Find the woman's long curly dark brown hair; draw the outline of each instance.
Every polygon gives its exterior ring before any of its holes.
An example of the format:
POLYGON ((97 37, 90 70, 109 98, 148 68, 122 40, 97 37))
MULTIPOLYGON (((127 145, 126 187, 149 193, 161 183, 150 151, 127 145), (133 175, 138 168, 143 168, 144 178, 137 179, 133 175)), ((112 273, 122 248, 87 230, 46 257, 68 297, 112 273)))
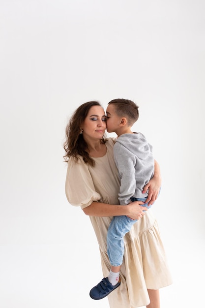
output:
MULTIPOLYGON (((73 156, 78 161, 79 156, 83 157, 85 163, 94 166, 94 160, 88 154, 88 144, 83 138, 81 127, 86 119, 88 112, 92 106, 101 106, 98 101, 89 101, 80 105, 72 117, 65 129, 65 142, 63 148, 65 150, 64 160, 68 162, 69 157, 73 156)), ((100 142, 105 143, 105 135, 100 139, 100 142)))

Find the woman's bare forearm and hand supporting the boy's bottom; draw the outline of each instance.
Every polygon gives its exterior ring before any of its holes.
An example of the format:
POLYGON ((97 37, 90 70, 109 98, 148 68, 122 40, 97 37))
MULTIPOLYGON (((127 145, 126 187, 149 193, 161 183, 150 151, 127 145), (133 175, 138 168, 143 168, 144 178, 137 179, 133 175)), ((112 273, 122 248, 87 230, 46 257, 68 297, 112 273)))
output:
POLYGON ((142 201, 131 202, 127 205, 113 205, 101 202, 92 202, 83 211, 88 216, 129 216, 133 219, 140 219, 145 215, 147 208, 140 206, 144 204, 142 201))

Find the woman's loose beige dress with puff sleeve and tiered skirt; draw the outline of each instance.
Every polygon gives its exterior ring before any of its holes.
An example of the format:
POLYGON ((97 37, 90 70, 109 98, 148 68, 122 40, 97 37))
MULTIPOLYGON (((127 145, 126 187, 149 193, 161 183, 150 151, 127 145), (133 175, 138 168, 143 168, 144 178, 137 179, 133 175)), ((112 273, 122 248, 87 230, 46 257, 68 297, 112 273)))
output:
MULTIPOLYGON (((68 161, 65 192, 68 202, 82 209, 93 201, 119 204, 119 179, 113 156, 113 138, 106 142, 107 153, 94 158, 95 166, 82 159, 68 161)), ((103 277, 110 271, 106 236, 112 217, 90 216, 101 254, 103 277)), ((136 308, 149 304, 147 289, 170 285, 172 277, 157 222, 148 210, 124 237, 124 260, 121 266, 120 286, 108 296, 110 308, 136 308)), ((99 277, 99 281, 102 277, 99 277)))

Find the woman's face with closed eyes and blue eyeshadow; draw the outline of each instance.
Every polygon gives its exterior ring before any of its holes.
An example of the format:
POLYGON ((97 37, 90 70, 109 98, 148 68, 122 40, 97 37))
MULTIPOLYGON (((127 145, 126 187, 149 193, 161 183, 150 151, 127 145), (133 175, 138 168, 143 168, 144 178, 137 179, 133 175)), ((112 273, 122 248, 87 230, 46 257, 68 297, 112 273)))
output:
POLYGON ((106 129, 106 116, 101 106, 92 106, 82 125, 84 139, 99 140, 106 129))

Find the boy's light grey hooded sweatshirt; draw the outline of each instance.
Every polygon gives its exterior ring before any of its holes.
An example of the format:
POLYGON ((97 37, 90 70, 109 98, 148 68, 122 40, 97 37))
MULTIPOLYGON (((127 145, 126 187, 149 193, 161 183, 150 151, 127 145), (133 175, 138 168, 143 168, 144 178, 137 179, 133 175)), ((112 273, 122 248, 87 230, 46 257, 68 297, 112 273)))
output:
POLYGON ((114 156, 120 178, 119 202, 128 204, 130 197, 144 198, 143 187, 154 174, 152 146, 145 136, 138 132, 123 134, 117 138, 114 156))

